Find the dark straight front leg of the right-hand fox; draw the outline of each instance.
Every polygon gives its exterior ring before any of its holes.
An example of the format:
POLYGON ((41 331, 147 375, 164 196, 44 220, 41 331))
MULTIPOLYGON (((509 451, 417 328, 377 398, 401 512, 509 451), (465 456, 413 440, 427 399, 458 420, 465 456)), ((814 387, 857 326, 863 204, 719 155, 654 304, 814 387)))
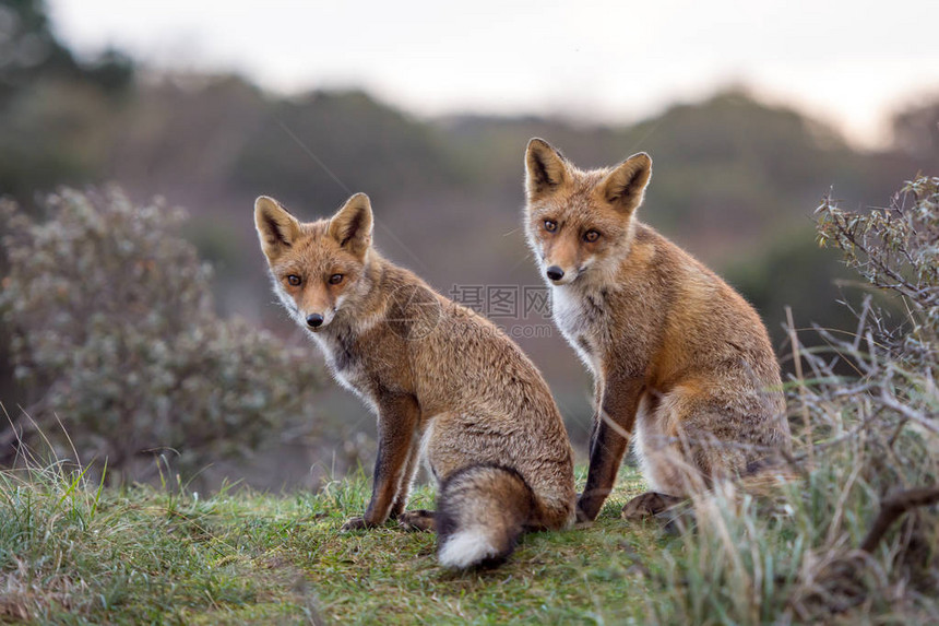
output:
POLYGON ((594 416, 590 442, 590 469, 584 491, 578 498, 578 520, 593 521, 613 491, 635 412, 642 394, 641 379, 609 379, 594 416))

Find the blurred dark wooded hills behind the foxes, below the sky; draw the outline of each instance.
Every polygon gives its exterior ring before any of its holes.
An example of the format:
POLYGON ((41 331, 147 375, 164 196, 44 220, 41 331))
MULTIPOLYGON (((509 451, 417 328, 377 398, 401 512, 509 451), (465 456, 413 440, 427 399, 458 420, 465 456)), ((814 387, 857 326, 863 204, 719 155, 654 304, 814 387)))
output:
MULTIPOLYGON (((786 305, 798 326, 849 328, 851 314, 836 303, 842 267, 815 244, 811 212, 830 191, 845 206, 883 205, 903 180, 939 170, 939 96, 924 97, 895 115, 893 144, 877 151, 857 150, 805 114, 741 87, 628 126, 421 120, 362 92, 280 97, 237 75, 139 69, 117 50, 80 58, 56 38, 43 2, 0 0, 0 194, 29 214, 38 211, 37 194, 59 185, 117 181, 131 201, 161 196, 186 206, 192 217, 182 232, 215 268, 218 314, 292 338, 297 331, 271 305, 257 249, 257 196, 275 196, 313 218, 366 191, 377 245, 441 292, 539 285, 520 228, 522 157, 535 135, 581 166, 652 154, 642 218, 739 287, 781 350, 786 305)), ((5 228, 0 224, 0 235, 5 228)), ((7 268, 0 259, 0 275, 7 268)), ((562 409, 587 413, 582 368, 563 341, 520 343, 562 409)), ((25 402, 8 364, 3 330, 0 398, 25 402)))

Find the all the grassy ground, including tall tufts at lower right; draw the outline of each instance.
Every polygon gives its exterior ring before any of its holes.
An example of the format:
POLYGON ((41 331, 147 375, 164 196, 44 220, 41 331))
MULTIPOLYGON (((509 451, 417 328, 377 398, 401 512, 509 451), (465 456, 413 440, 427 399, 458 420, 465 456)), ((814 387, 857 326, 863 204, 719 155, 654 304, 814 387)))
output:
MULTIPOLYGON (((623 468, 593 525, 528 534, 507 564, 467 572, 437 565, 430 533, 340 532, 367 503, 361 473, 317 493, 206 498, 178 480, 102 488, 64 463, 0 471, 0 622, 935 624, 936 512, 859 555, 877 501, 852 454, 775 498, 699 498, 679 534, 619 518, 644 489, 623 468)), ((432 505, 418 487, 411 506, 432 505)))

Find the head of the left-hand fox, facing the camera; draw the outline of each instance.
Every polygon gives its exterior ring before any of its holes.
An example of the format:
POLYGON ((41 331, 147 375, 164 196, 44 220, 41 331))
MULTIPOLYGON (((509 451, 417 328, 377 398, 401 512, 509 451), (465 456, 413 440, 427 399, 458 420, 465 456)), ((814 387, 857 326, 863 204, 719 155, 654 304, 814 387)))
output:
POLYGON ((368 293, 372 214, 365 193, 349 198, 331 218, 309 223, 261 196, 254 226, 274 292, 301 326, 318 332, 368 293))

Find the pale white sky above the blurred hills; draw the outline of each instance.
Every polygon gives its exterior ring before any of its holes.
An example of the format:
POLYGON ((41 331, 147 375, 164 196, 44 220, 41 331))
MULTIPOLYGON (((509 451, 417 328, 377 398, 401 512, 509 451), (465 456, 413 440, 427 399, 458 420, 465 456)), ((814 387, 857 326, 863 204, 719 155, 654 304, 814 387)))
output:
POLYGON ((285 94, 361 87, 418 116, 628 123, 746 85, 876 146, 891 111, 939 97, 937 0, 48 4, 80 54, 115 46, 285 94))

